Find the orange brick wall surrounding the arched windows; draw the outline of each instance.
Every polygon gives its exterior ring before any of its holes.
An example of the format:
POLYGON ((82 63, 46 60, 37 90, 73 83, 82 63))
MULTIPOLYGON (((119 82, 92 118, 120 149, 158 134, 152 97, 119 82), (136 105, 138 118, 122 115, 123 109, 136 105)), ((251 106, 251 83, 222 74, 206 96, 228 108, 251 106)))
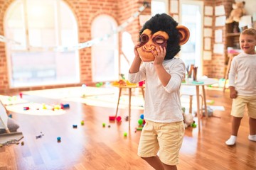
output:
MULTIPOLYGON (((4 35, 4 14, 7 8, 14 0, 0 0, 0 35, 4 35)), ((90 28, 91 23, 95 17, 100 14, 108 14, 116 19, 118 25, 124 23, 132 13, 138 11, 138 8, 142 6, 143 0, 63 0, 75 13, 75 17, 78 21, 79 29, 79 42, 86 42, 91 40, 90 28)), ((146 0, 150 2, 150 0, 146 0)), ((222 4, 225 6, 226 12, 229 13, 231 10, 232 0, 204 0, 205 4, 215 6, 216 4, 222 4)), ((149 14, 150 8, 142 14, 149 14)), ((228 15, 227 15, 228 16, 228 15)), ((132 23, 124 28, 123 31, 127 31, 132 35, 132 40, 137 42, 138 32, 141 26, 139 26, 139 18, 136 18, 132 23)), ((122 35, 122 33, 119 33, 122 35)), ((119 36, 119 49, 122 47, 121 37, 119 36)), ((92 68, 91 68, 91 48, 83 48, 80 50, 80 84, 69 84, 69 85, 58 85, 58 86, 40 86, 40 87, 29 87, 22 89, 9 89, 9 78, 8 78, 8 67, 6 62, 6 52, 4 42, 0 42, 0 93, 18 92, 35 89, 50 89, 56 87, 65 86, 78 86, 81 84, 92 84, 92 68)), ((208 77, 223 77, 223 66, 224 57, 213 54, 213 60, 203 62, 203 74, 208 77)))

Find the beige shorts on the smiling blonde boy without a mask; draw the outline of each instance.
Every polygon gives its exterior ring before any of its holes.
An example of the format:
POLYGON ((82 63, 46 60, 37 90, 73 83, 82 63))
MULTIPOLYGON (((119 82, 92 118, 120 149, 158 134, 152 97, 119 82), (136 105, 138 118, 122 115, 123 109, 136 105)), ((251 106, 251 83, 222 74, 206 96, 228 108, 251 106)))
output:
POLYGON ((246 111, 245 108, 247 108, 248 116, 256 119, 256 96, 238 96, 234 98, 231 115, 242 118, 246 111))

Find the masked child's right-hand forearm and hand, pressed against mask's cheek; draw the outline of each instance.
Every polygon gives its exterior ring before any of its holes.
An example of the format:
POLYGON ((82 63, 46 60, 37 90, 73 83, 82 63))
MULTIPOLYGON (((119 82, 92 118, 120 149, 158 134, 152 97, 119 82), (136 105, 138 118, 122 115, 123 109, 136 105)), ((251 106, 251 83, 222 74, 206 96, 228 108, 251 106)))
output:
POLYGON ((156 73, 159 76, 159 79, 161 81, 161 84, 163 86, 167 86, 171 79, 171 75, 166 72, 166 69, 164 69, 163 62, 164 57, 166 56, 166 48, 164 47, 156 47, 156 52, 152 51, 155 60, 154 60, 154 67, 156 69, 156 73))

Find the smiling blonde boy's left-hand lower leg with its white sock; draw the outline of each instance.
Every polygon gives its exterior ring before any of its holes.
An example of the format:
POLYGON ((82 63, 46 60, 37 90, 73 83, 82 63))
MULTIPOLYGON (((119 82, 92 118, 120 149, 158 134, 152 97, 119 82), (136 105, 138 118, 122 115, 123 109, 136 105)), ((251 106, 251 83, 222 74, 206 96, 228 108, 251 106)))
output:
POLYGON ((230 138, 225 142, 226 145, 235 145, 237 136, 238 136, 238 129, 240 127, 242 118, 234 117, 232 118, 232 125, 231 125, 231 136, 230 138))

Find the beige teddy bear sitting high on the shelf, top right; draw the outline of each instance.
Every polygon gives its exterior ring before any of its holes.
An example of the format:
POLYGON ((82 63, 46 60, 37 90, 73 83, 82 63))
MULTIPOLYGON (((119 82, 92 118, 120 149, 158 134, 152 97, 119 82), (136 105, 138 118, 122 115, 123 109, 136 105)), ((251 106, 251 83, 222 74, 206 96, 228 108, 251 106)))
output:
POLYGON ((226 23, 239 22, 240 18, 245 15, 245 1, 236 2, 232 7, 233 10, 226 19, 226 23))

